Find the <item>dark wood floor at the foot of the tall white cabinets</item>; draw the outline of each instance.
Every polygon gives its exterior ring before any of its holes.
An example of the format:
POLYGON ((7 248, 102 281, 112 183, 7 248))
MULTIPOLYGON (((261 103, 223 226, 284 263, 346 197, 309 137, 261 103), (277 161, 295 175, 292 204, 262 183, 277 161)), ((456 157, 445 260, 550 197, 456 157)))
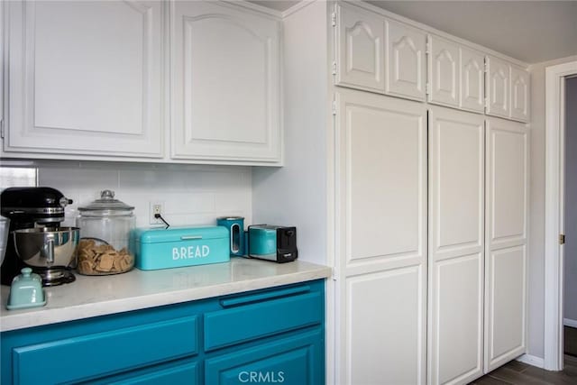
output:
POLYGON ((563 371, 545 371, 527 363, 511 361, 472 384, 476 385, 575 385, 577 357, 565 354, 563 371))

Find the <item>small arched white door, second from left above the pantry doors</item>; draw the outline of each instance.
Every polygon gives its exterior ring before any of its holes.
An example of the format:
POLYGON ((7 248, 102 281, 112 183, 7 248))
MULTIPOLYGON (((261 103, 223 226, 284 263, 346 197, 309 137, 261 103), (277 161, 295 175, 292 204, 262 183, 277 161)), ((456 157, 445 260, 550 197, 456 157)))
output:
POLYGON ((385 92, 392 96, 425 100, 426 33, 387 20, 385 92))

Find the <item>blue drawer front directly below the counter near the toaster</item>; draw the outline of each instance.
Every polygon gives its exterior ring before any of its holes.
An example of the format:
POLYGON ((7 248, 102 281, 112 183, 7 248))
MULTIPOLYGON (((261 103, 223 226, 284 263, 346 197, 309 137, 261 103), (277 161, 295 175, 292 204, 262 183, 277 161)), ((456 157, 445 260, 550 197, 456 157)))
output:
POLYGON ((325 300, 314 284, 220 300, 205 314, 205 351, 324 322, 325 300))

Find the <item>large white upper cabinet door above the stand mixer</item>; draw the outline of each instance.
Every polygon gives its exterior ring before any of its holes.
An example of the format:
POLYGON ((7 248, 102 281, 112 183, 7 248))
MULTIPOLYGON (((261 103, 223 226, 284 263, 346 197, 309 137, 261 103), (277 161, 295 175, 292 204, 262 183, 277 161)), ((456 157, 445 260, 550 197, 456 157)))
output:
POLYGON ((162 157, 163 3, 6 7, 4 151, 162 157))

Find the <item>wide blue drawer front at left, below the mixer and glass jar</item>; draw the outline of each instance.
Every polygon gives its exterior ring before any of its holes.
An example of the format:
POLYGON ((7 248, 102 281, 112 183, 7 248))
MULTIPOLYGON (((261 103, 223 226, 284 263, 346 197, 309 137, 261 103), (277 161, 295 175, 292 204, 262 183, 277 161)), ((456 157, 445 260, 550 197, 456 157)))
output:
POLYGON ((186 316, 14 348, 14 382, 87 380, 197 352, 197 316, 186 316))

